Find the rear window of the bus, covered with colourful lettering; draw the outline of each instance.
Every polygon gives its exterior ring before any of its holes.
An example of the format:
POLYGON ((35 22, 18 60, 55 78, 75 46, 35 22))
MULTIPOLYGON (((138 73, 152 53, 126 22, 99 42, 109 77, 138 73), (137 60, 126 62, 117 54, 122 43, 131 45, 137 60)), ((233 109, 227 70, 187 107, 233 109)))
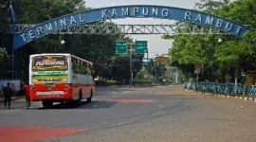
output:
POLYGON ((66 70, 67 59, 64 55, 35 56, 32 59, 32 70, 66 70))

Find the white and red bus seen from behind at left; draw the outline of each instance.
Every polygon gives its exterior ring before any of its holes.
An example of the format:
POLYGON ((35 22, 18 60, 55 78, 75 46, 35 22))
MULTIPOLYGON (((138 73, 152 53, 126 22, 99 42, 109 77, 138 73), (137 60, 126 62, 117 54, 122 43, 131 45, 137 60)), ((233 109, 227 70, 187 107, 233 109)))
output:
POLYGON ((34 54, 29 60, 29 97, 42 101, 45 108, 53 102, 91 101, 95 93, 93 63, 71 54, 34 54))

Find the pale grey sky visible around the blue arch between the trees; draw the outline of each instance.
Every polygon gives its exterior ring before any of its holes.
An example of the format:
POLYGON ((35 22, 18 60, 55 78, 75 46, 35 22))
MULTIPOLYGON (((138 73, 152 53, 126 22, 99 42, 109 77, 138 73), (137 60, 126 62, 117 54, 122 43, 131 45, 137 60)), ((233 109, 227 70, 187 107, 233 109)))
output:
MULTIPOLYGON (((110 6, 123 5, 159 5, 170 6, 177 8, 192 9, 195 2, 199 0, 85 0, 86 6, 90 8, 104 8, 110 6)), ((152 18, 136 18, 136 19, 118 19, 112 20, 117 24, 127 25, 160 25, 160 24, 174 24, 172 20, 161 20, 152 18)), ((172 47, 171 40, 161 39, 161 35, 130 35, 137 41, 148 41, 149 57, 154 58, 156 54, 161 55, 168 53, 168 49, 172 47)))

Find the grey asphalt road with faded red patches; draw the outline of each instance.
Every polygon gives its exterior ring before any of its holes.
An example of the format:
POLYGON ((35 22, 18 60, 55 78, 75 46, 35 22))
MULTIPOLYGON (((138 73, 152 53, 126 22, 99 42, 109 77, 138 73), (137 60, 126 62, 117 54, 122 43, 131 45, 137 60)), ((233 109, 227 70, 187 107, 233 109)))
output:
POLYGON ((1 142, 253 142, 256 103, 188 93, 180 86, 97 88, 81 107, 24 99, 0 106, 1 142))

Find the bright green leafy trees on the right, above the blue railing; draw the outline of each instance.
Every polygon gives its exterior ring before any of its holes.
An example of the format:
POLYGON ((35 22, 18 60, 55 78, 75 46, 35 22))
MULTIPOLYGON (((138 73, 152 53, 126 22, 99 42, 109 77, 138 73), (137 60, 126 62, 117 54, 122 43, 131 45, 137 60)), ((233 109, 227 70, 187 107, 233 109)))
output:
MULTIPOLYGON (((195 78, 194 64, 200 64, 203 73, 200 80, 234 81, 234 70, 251 69, 250 62, 256 59, 256 3, 255 0, 229 0, 217 2, 201 0, 199 9, 230 20, 250 25, 251 29, 242 38, 231 35, 164 35, 162 38, 174 40, 170 49, 171 64, 177 66, 187 79, 195 78), (221 39, 221 42, 219 42, 221 39)), ((180 29, 185 30, 185 29, 180 29)), ((241 77, 239 77, 241 78, 241 77)))

